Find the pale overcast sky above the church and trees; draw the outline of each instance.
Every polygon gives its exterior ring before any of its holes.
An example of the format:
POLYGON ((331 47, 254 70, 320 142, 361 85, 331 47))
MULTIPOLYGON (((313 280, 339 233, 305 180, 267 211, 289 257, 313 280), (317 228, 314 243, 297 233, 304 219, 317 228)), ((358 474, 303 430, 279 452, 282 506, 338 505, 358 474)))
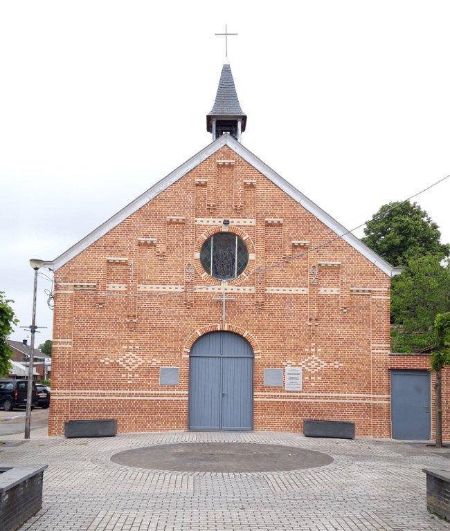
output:
MULTIPOLYGON (((20 324, 30 257, 54 259, 211 141, 225 23, 242 143, 351 228, 450 173, 449 20, 433 0, 1 2, 0 290, 20 324)), ((449 197, 450 179, 417 200, 447 242, 449 197)))

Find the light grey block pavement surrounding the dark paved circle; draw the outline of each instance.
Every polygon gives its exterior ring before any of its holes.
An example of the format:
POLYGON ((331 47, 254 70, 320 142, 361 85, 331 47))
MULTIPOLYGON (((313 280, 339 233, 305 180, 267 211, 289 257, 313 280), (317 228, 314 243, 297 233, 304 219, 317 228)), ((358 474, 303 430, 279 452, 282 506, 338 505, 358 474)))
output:
POLYGON ((66 440, 36 430, 28 443, 15 445, 10 437, 2 445, 2 439, 0 462, 49 465, 42 510, 21 530, 450 530, 426 511, 421 471, 450 468, 449 449, 260 432, 66 440), (294 472, 224 474, 138 469, 110 460, 125 449, 196 441, 289 445, 330 454, 334 461, 294 472))

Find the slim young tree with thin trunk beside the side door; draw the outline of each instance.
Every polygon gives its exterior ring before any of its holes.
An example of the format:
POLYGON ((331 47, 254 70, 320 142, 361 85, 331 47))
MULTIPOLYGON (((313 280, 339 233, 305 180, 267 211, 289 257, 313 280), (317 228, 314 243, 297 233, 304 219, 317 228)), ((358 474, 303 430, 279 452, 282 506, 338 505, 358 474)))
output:
POLYGON ((431 356, 431 368, 436 373, 435 425, 436 447, 442 448, 442 369, 450 366, 450 313, 439 313, 434 322, 436 346, 431 356))

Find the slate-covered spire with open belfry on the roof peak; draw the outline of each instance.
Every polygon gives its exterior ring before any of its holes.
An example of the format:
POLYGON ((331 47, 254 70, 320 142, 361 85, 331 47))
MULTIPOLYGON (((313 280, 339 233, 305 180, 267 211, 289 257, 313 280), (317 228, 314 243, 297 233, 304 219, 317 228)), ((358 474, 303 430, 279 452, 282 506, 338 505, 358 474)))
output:
POLYGON ((228 133, 240 142, 246 121, 247 117, 237 98, 231 67, 226 59, 222 66, 213 109, 206 115, 206 129, 213 133, 213 140, 228 133))

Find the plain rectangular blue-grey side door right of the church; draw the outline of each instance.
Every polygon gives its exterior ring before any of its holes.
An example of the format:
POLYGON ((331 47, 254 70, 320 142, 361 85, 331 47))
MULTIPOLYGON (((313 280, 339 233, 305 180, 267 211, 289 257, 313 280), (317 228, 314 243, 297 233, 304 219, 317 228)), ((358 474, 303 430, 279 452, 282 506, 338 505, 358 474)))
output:
POLYGON ((431 387, 428 371, 391 371, 391 419, 394 439, 429 440, 431 387))

